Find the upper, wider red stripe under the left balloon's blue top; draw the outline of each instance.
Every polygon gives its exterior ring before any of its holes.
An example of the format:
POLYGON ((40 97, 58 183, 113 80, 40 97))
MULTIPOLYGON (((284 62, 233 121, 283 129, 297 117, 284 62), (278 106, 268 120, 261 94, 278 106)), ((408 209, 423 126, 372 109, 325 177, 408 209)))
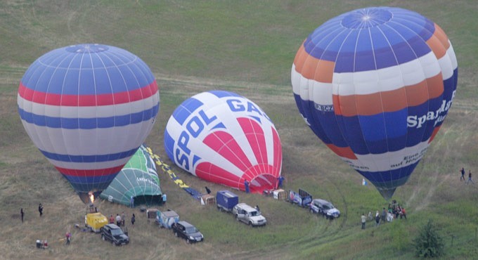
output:
POLYGON ((157 93, 156 81, 143 86, 140 89, 132 91, 123 91, 118 93, 107 93, 98 95, 61 95, 55 93, 46 93, 34 91, 27 88, 20 82, 18 94, 25 100, 45 105, 66 105, 75 107, 88 107, 97 105, 116 105, 130 103, 137 100, 149 98, 157 93))

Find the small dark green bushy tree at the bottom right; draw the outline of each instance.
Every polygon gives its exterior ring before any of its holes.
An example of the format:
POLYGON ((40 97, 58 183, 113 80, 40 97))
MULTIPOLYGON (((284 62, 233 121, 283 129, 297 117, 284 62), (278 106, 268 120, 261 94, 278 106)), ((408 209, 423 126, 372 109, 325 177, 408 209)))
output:
POLYGON ((439 229, 431 219, 420 229, 418 237, 413 240, 417 256, 437 257, 444 255, 444 242, 438 231, 439 229))

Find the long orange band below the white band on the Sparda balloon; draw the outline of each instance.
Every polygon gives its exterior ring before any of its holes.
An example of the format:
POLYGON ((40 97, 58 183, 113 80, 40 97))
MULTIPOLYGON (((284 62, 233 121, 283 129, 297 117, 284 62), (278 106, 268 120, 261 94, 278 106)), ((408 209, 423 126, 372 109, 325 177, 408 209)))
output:
POLYGON ((441 96, 444 91, 441 73, 418 84, 393 91, 382 91, 368 95, 332 96, 336 115, 377 115, 420 105, 441 96))

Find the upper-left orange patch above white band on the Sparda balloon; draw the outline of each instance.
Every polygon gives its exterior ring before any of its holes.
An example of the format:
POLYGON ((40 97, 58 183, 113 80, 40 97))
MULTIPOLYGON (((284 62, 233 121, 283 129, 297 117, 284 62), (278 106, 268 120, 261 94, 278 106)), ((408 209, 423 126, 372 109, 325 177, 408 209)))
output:
POLYGON ((314 79, 316 82, 332 83, 335 63, 329 60, 320 60, 310 56, 304 48, 300 46, 294 59, 295 70, 302 74, 306 79, 314 79))

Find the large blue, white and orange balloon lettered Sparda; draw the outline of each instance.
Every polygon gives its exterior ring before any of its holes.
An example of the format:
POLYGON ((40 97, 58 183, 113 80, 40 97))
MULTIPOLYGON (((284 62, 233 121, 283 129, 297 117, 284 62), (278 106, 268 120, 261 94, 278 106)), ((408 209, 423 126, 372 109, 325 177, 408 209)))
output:
POLYGON ((291 82, 314 134, 389 200, 439 131, 455 96, 458 63, 432 20, 370 7, 309 34, 291 82))

